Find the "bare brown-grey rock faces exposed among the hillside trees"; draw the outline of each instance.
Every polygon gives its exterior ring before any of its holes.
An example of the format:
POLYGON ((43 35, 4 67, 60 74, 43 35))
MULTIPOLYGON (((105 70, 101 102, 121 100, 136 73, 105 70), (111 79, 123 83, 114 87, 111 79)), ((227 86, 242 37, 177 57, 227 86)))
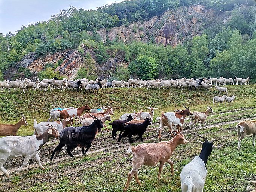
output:
MULTIPOLYGON (((157 44, 176 46, 187 38, 201 35, 205 21, 220 20, 223 23, 228 22, 229 12, 218 15, 213 9, 206 9, 201 5, 181 7, 175 11, 165 12, 161 16, 155 16, 148 21, 134 22, 128 27, 120 26, 112 28, 110 31, 100 29, 97 33, 105 41, 107 37, 110 40, 118 38, 125 43, 133 40, 149 42, 154 40, 157 44)), ((95 58, 93 48, 87 48, 82 45, 85 54, 88 52, 92 58, 95 58)), ((83 58, 77 50, 65 50, 49 54, 45 58, 36 58, 35 53, 29 53, 14 67, 5 73, 6 79, 13 79, 19 67, 29 68, 36 78, 37 72, 43 70, 47 63, 57 63, 63 59, 63 63, 56 69, 61 75, 73 79, 77 70, 83 65, 83 58)), ((104 64, 96 64, 98 74, 104 74, 104 71, 115 70, 116 65, 128 65, 122 55, 116 54, 110 57, 104 64)), ((21 74, 22 76, 22 74, 21 74)))

